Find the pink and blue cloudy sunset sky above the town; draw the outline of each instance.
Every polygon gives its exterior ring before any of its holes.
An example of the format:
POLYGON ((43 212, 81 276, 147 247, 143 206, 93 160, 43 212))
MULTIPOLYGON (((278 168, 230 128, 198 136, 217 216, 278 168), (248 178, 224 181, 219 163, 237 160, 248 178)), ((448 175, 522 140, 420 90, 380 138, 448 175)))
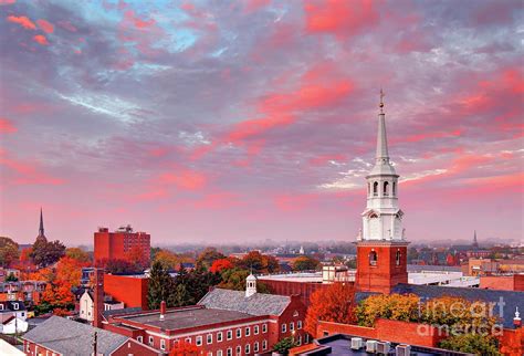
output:
POLYGON ((0 0, 0 235, 523 241, 522 1, 0 0))

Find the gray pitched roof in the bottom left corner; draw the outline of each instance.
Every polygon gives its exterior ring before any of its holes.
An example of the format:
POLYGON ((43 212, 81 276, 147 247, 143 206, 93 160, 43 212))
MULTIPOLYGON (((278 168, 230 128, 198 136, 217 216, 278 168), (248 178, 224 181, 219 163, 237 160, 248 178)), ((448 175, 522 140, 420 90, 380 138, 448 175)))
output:
POLYGON ((97 331, 98 354, 109 355, 128 339, 127 336, 60 316, 51 316, 23 338, 62 355, 91 355, 94 331, 97 331))

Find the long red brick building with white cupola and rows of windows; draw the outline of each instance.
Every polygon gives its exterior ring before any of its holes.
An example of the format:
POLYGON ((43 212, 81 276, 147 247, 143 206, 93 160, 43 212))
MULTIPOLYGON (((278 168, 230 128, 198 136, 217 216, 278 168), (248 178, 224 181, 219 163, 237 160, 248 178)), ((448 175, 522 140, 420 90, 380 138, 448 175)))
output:
POLYGON ((307 342, 300 297, 256 293, 255 284, 251 275, 245 292, 213 289, 197 305, 114 315, 103 327, 163 352, 186 342, 216 356, 269 352, 287 336, 307 342))

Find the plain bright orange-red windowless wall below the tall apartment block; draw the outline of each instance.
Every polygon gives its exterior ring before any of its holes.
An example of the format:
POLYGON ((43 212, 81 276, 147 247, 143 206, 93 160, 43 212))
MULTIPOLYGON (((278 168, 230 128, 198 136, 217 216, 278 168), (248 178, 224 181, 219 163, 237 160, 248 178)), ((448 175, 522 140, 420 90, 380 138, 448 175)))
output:
POLYGON ((124 302, 125 307, 139 306, 147 310, 147 279, 126 275, 105 274, 104 292, 118 302, 124 302))

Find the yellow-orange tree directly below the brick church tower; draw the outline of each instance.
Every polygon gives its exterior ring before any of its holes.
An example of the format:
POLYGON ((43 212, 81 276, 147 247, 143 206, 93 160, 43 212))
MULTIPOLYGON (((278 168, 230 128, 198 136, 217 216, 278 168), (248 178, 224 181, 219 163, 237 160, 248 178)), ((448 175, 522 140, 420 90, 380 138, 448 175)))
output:
POLYGON ((419 320, 419 301, 415 294, 377 294, 370 295, 356 307, 358 325, 373 326, 377 318, 417 322, 419 320))

